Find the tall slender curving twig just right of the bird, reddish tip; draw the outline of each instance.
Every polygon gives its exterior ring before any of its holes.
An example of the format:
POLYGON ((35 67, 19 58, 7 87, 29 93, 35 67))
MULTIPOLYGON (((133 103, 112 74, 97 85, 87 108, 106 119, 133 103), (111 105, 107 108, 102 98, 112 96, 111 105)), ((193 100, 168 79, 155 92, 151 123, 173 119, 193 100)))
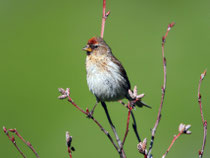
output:
POLYGON ((156 120, 155 125, 152 129, 151 142, 150 142, 150 147, 149 147, 149 151, 148 151, 148 157, 149 158, 151 157, 153 142, 154 142, 154 139, 155 139, 155 132, 157 130, 157 127, 158 127, 160 119, 161 119, 161 111, 162 111, 164 97, 165 97, 165 91, 166 91, 166 58, 165 58, 165 55, 164 55, 165 40, 166 40, 166 37, 168 36, 168 32, 171 30, 171 28, 174 25, 175 25, 174 22, 169 24, 165 36, 162 37, 162 57, 163 57, 164 82, 163 82, 163 86, 162 86, 162 97, 161 97, 161 102, 160 102, 160 107, 159 107, 159 111, 158 111, 157 120, 156 120))

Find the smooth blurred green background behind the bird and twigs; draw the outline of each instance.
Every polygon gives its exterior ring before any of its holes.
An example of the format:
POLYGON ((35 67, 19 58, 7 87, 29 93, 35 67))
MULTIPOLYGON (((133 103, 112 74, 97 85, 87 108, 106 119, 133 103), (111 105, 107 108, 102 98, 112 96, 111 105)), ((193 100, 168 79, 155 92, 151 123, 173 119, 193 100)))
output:
MULTIPOLYGON (((182 135, 170 158, 198 157, 203 127, 197 103, 200 74, 210 67, 210 1, 107 0, 104 39, 123 63, 132 87, 145 93, 152 109, 136 109, 141 138, 150 140, 161 100, 163 66, 161 38, 166 39, 167 90, 162 120, 156 133, 154 157, 161 157, 178 134, 180 123, 191 124, 192 135, 182 135)), ((58 88, 71 89, 74 101, 91 109, 95 97, 86 84, 82 48, 100 35, 102 0, 0 0, 0 127, 17 128, 42 158, 68 157, 65 132, 73 136, 73 157, 119 157, 107 137, 66 100, 58 88)), ((204 117, 210 121, 210 77, 201 86, 204 117)), ((127 110, 108 103, 116 129, 123 138, 127 110)), ((95 118, 113 135, 101 106, 95 118)), ((17 139, 17 138, 16 138, 17 139)), ((0 131, 1 157, 21 157, 0 131)), ((210 157, 207 136, 204 158, 210 157)), ((27 157, 35 157, 20 140, 27 157)), ((143 157, 130 126, 125 151, 128 158, 143 157)))

